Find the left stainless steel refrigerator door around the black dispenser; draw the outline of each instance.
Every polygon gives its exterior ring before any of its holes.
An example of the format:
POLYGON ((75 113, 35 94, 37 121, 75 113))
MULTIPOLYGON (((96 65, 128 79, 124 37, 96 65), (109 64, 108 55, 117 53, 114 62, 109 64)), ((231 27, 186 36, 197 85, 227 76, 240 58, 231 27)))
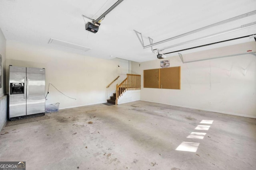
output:
POLYGON ((9 78, 9 117, 26 115, 26 96, 24 94, 10 94, 10 83, 24 83, 26 67, 10 66, 9 78))

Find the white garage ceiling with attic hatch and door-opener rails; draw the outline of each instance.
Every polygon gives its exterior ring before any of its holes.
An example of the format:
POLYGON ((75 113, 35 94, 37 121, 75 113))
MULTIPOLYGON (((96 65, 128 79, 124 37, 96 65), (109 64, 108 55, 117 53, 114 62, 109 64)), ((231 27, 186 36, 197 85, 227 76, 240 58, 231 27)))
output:
MULTIPOLYGON (((104 59, 118 57, 143 62, 157 59, 156 54, 152 53, 150 48, 143 49, 134 29, 142 33, 144 43, 148 45, 148 37, 154 39, 154 43, 256 10, 256 0, 124 0, 101 21, 98 33, 85 30, 85 22, 90 20, 83 18, 82 15, 96 20, 116 1, 1 0, 0 28, 7 41, 21 41, 91 57, 104 59), (49 44, 51 38, 87 47, 90 50, 76 51, 49 44)), ((155 45, 153 49, 175 45, 255 21, 256 15, 248 16, 155 45)), ((165 49, 163 53, 252 34, 256 34, 255 25, 165 49)), ((183 53, 249 41, 254 39, 247 37, 183 51, 183 53)), ((178 53, 172 53, 167 57, 176 55, 178 53)))

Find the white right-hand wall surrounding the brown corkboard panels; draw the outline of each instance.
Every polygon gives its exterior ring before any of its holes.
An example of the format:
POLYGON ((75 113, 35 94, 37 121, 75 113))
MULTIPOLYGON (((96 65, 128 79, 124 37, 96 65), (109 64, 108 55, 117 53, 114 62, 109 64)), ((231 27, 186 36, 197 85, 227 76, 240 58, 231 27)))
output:
MULTIPOLYGON (((184 61, 256 51, 256 42, 184 55, 184 61)), ((256 56, 240 55, 183 64, 178 56, 132 63, 133 74, 142 75, 140 99, 256 118, 256 56), (181 90, 143 88, 143 70, 160 68, 161 60, 181 66, 181 90), (139 66, 140 64, 140 66, 139 66), (246 75, 244 70, 246 69, 246 75)))

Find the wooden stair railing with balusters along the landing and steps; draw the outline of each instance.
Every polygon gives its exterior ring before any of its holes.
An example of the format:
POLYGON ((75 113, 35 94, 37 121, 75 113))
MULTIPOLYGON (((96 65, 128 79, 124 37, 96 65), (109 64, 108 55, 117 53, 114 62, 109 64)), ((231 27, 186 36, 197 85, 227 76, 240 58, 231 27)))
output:
POLYGON ((140 75, 139 74, 127 74, 126 79, 119 85, 116 84, 116 104, 120 96, 127 90, 140 90, 140 75))

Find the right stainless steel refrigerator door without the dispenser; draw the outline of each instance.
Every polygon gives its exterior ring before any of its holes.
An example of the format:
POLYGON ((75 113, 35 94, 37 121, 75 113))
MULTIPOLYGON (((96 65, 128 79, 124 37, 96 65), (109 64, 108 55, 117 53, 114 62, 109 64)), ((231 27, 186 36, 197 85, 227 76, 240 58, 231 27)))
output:
POLYGON ((45 70, 27 67, 27 115, 45 112, 45 70))

